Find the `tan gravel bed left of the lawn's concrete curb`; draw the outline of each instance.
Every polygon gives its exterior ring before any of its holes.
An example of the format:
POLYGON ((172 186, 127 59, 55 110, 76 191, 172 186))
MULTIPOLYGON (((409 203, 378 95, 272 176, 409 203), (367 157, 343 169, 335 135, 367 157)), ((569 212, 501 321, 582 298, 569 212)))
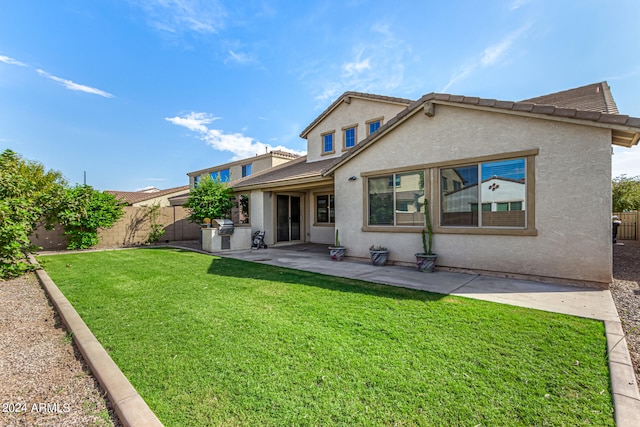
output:
POLYGON ((120 426, 35 275, 0 301, 0 425, 120 426))

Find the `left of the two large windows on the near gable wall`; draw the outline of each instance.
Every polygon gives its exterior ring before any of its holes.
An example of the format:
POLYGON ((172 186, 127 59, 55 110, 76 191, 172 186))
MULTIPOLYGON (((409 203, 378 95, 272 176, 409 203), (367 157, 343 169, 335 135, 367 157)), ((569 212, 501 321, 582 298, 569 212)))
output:
POLYGON ((368 225, 424 227, 424 172, 370 177, 368 225))

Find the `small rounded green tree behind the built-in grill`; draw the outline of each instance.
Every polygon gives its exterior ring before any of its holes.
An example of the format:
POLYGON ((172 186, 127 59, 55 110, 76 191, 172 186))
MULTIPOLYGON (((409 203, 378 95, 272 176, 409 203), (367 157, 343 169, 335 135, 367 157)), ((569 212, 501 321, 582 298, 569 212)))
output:
POLYGON ((189 220, 202 223, 205 218, 230 218, 235 205, 233 190, 219 179, 205 177, 189 193, 185 207, 191 215, 189 220))

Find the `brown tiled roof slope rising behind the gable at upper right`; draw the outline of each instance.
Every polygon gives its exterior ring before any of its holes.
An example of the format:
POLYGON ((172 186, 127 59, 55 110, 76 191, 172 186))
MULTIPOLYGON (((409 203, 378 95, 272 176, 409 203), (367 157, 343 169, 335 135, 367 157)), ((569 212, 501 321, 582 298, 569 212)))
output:
POLYGON ((599 111, 606 114, 619 114, 607 82, 593 83, 575 89, 525 99, 520 102, 555 105, 561 108, 575 108, 582 111, 599 111))

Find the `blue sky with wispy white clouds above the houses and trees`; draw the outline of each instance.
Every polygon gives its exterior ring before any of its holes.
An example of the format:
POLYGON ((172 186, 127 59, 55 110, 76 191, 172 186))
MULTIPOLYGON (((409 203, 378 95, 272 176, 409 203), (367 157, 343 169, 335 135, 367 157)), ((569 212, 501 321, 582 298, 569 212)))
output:
MULTIPOLYGON (((0 150, 100 190, 303 152, 347 90, 517 101, 606 80, 640 117, 637 0, 0 0, 0 150)), ((640 176, 640 147, 613 176, 640 176)))

